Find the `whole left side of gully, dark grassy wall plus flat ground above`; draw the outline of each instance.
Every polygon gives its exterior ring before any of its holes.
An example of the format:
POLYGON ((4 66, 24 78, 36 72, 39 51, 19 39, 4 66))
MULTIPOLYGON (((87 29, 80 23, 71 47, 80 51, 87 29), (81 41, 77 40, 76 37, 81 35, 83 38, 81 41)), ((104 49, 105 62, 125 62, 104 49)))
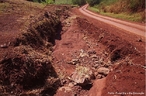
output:
POLYGON ((0 27, 0 95, 55 94, 60 81, 51 64, 51 52, 60 32, 58 28, 61 28, 59 19, 66 17, 66 13, 56 10, 55 6, 50 7, 53 11, 49 11, 49 7, 29 6, 25 1, 8 0, 5 3, 12 8, 4 10, 10 12, 10 20, 1 14, 4 20, 0 27), (32 8, 31 13, 25 10, 26 6, 32 8), (13 29, 12 25, 17 27, 13 29), (35 92, 28 91, 36 88, 35 92))

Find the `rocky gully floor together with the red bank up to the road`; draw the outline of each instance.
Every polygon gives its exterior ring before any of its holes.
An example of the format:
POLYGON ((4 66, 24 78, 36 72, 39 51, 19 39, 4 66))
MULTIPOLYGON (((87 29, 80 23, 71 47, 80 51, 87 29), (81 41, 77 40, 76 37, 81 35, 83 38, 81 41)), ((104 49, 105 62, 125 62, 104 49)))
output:
POLYGON ((128 41, 74 10, 52 53, 63 85, 55 96, 144 96, 144 41, 128 41))

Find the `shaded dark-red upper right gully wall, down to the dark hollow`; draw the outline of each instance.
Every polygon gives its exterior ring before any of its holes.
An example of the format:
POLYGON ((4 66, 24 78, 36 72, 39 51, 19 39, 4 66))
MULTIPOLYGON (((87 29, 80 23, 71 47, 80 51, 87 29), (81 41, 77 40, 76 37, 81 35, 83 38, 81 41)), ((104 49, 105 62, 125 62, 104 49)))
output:
POLYGON ((95 27, 86 19, 82 20, 81 18, 77 18, 77 20, 80 28, 86 28, 84 29, 85 34, 95 38, 96 42, 102 43, 106 46, 105 51, 108 53, 111 62, 122 59, 130 54, 138 55, 134 46, 122 38, 115 36, 104 29, 95 27))

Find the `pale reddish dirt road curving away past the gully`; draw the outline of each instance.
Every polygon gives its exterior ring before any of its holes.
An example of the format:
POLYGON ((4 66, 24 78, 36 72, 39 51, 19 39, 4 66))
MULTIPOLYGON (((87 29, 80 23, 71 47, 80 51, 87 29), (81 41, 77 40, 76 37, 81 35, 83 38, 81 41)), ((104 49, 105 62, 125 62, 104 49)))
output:
POLYGON ((81 13, 83 13, 84 15, 89 16, 91 18, 94 18, 96 20, 99 20, 99 21, 102 21, 102 22, 107 23, 109 25, 118 27, 118 28, 123 29, 125 31, 128 31, 128 32, 131 32, 131 33, 146 37, 145 25, 126 22, 126 21, 122 21, 122 20, 118 20, 118 19, 102 16, 102 15, 99 15, 99 14, 95 14, 95 13, 87 10, 87 7, 88 7, 88 4, 86 4, 83 7, 81 7, 79 9, 79 11, 81 13))

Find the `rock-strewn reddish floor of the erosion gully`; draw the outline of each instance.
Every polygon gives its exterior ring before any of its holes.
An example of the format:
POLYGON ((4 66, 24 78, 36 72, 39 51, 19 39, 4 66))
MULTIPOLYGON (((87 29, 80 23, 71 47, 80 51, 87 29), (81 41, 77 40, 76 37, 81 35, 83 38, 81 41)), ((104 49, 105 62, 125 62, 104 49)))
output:
MULTIPOLYGON (((55 96, 75 96, 77 94, 86 96, 92 87, 92 81, 106 77, 112 70, 109 67, 110 61, 104 59, 107 57, 104 53, 105 47, 89 37, 86 34, 86 28, 79 27, 77 19, 81 18, 72 15, 63 21, 64 26, 60 38, 56 40, 53 48, 53 66, 63 85, 55 96), (91 74, 89 74, 90 72, 91 74)), ((89 28, 90 26, 90 24, 87 25, 89 28)), ((101 90, 102 87, 99 89, 101 90)))

